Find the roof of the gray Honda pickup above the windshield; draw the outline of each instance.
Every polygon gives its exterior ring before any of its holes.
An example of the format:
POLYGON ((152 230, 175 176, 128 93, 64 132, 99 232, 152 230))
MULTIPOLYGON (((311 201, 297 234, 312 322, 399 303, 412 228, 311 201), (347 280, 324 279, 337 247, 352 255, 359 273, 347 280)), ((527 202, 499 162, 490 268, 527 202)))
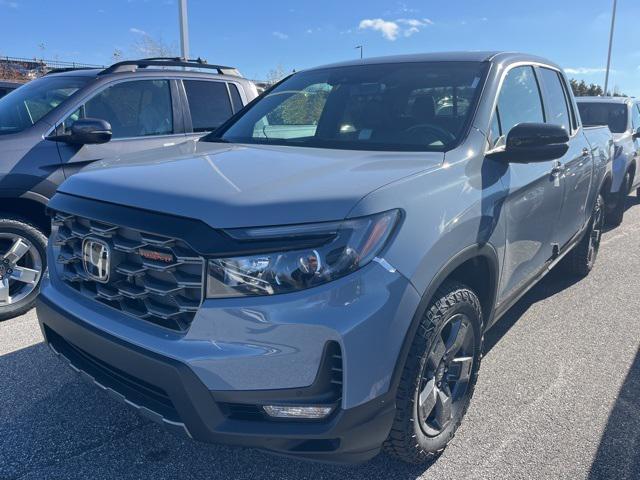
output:
POLYGON ((554 62, 546 58, 519 52, 502 51, 468 51, 468 52, 432 52, 414 53, 408 55, 390 55, 385 57, 371 57, 346 62, 332 63, 312 68, 334 68, 351 65, 375 65, 384 63, 412 63, 412 62, 532 62, 544 63, 558 67, 554 62))

